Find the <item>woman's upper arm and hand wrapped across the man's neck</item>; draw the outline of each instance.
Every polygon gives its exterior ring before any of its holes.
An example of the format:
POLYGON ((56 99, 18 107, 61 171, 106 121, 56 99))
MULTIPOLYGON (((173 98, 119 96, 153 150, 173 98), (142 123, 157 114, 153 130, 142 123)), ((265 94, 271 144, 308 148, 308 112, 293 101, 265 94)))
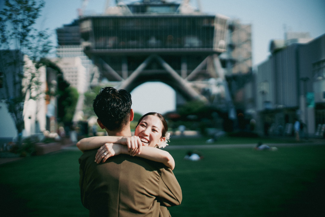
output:
POLYGON ((117 143, 127 146, 131 155, 141 153, 142 142, 137 136, 93 136, 83 138, 77 142, 77 147, 84 152, 94 148, 99 148, 105 143, 117 143))

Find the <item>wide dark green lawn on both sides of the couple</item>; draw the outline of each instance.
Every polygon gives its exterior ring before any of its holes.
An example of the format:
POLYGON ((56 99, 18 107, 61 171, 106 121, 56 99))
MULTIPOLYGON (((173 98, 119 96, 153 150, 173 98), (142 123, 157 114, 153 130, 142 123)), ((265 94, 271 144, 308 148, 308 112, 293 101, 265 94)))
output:
MULTIPOLYGON (((173 217, 325 216, 325 146, 206 148, 197 162, 184 160, 186 151, 170 150, 183 193, 182 204, 169 208, 173 217)), ((65 150, 0 165, 0 216, 88 216, 80 155, 65 150)))

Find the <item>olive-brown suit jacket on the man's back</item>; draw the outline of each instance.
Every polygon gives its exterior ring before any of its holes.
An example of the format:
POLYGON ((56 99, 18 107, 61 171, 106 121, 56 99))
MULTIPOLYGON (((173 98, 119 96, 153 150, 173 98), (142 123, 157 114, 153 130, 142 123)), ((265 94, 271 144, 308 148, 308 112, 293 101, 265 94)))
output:
POLYGON ((96 152, 79 158, 81 200, 90 216, 166 216, 164 207, 181 203, 175 175, 162 163, 121 154, 97 164, 96 152))

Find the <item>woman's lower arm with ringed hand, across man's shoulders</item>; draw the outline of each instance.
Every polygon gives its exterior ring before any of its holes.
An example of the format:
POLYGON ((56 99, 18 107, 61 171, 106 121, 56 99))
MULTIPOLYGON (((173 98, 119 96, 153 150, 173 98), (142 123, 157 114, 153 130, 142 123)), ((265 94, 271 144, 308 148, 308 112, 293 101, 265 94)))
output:
MULTIPOLYGON (((99 163, 101 160, 105 162, 109 157, 119 154, 130 154, 130 152, 128 151, 126 146, 120 144, 107 143, 98 149, 95 161, 97 163, 99 163)), ((141 153, 136 154, 135 156, 161 162, 172 170, 174 170, 175 168, 174 158, 169 154, 168 151, 164 151, 162 149, 144 146, 142 147, 141 153)))

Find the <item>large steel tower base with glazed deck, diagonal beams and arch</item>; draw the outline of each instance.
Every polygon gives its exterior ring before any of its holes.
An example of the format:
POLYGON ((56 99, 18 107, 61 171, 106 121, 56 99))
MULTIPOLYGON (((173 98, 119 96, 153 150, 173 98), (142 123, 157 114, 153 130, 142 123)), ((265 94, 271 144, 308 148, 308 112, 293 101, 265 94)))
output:
POLYGON ((160 81, 185 100, 207 100, 207 81, 225 79, 218 55, 226 50, 227 17, 204 14, 187 2, 140 1, 82 16, 84 51, 119 88, 160 81))

